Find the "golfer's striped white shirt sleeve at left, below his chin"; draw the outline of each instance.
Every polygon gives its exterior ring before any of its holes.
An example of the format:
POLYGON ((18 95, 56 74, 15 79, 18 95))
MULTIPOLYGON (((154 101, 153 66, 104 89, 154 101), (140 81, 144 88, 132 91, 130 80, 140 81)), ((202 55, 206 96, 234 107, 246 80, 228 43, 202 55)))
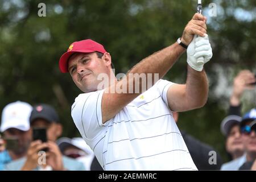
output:
POLYGON ((104 90, 80 94, 71 108, 71 115, 82 137, 93 140, 105 127, 102 124, 101 100, 104 90))

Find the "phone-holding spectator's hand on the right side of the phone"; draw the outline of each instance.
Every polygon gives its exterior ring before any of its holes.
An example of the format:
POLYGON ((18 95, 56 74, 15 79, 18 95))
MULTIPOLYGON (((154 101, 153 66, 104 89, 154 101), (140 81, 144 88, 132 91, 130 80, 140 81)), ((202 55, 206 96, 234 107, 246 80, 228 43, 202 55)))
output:
POLYGON ((62 154, 56 143, 48 141, 47 146, 49 151, 46 153, 46 163, 52 167, 55 171, 64 171, 64 166, 62 162, 62 154))

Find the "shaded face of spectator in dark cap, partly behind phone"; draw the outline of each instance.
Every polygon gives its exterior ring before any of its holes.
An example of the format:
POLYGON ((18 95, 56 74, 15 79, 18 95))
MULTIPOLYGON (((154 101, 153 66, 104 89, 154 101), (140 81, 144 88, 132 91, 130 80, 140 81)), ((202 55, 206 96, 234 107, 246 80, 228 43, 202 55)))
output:
POLYGON ((31 123, 31 127, 43 127, 46 128, 47 140, 55 142, 62 133, 62 127, 59 123, 48 122, 45 119, 35 119, 31 123))

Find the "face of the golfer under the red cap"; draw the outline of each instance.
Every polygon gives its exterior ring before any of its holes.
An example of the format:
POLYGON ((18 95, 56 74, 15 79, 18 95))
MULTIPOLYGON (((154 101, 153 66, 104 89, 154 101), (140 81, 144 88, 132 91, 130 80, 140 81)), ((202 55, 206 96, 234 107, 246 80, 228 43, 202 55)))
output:
POLYGON ((105 53, 102 58, 98 58, 96 52, 75 53, 69 58, 68 71, 72 76, 76 86, 85 93, 97 90, 101 80, 97 80, 100 73, 109 75, 108 64, 105 61, 105 53))

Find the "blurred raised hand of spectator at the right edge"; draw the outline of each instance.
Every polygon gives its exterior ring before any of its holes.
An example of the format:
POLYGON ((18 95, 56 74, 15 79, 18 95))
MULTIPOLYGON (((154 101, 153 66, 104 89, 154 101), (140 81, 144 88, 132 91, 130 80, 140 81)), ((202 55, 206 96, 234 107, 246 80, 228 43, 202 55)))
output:
POLYGON ((254 89, 255 85, 250 84, 255 81, 256 79, 254 73, 250 72, 249 70, 242 70, 239 72, 233 81, 233 92, 232 96, 230 97, 230 105, 240 105, 240 99, 243 91, 246 89, 254 89))

